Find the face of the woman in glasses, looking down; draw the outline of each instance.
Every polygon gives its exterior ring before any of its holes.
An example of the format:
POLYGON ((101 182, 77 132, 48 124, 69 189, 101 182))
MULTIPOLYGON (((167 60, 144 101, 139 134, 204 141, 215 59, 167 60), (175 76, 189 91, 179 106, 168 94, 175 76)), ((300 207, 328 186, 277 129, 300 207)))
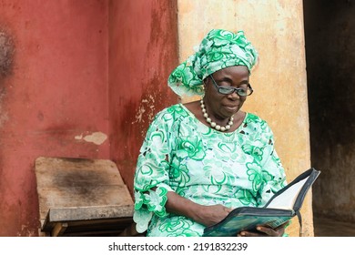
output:
MULTIPOLYGON (((247 66, 229 66, 218 70, 212 76, 219 87, 248 87, 249 84, 247 66)), ((218 93, 210 76, 205 79, 205 84, 204 101, 208 115, 217 119, 225 119, 236 114, 246 100, 246 97, 240 97, 236 92, 229 95, 218 93)))

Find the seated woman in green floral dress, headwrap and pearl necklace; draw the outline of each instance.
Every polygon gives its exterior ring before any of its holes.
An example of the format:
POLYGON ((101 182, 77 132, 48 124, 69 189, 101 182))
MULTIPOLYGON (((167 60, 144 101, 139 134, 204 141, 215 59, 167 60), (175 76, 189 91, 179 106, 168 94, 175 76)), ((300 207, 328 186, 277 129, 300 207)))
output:
MULTIPOLYGON (((213 29, 198 51, 171 73, 177 95, 201 100, 157 114, 140 149, 135 175, 137 232, 202 236, 231 209, 262 207, 285 186, 273 134, 240 108, 258 53, 242 31, 213 29)), ((282 236, 284 226, 238 236, 282 236)))

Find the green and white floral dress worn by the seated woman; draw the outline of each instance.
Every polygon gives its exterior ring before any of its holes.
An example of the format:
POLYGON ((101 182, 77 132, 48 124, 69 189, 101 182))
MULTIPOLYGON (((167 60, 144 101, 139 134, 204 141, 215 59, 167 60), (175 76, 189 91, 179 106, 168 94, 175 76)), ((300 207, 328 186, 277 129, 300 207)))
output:
POLYGON ((167 191, 202 205, 262 207, 285 185, 264 120, 247 113, 237 130, 223 133, 177 104, 159 112, 147 130, 137 159, 134 220, 147 236, 198 237, 205 226, 166 211, 167 191))

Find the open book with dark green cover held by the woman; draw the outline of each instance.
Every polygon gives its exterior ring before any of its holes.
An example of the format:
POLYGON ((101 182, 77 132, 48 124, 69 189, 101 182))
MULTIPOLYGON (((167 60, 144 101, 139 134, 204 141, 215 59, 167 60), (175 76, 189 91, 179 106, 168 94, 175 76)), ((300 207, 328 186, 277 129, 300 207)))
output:
POLYGON ((240 207, 233 209, 225 219, 206 228, 203 236, 237 236, 242 230, 256 230, 260 225, 275 229, 296 215, 299 218, 301 235, 302 219, 299 209, 309 188, 319 175, 320 171, 315 168, 308 169, 275 193, 263 208, 240 207))

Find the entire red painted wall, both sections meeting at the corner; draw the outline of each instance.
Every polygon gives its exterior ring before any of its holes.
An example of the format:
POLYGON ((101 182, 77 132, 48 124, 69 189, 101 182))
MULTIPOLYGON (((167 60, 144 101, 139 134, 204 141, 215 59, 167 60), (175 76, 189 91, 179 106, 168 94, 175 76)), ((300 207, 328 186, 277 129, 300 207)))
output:
POLYGON ((176 26, 176 1, 0 0, 14 49, 0 66, 0 236, 38 235, 37 157, 113 159, 132 190, 149 122, 177 102, 176 26), (107 138, 84 139, 95 132, 107 138))

